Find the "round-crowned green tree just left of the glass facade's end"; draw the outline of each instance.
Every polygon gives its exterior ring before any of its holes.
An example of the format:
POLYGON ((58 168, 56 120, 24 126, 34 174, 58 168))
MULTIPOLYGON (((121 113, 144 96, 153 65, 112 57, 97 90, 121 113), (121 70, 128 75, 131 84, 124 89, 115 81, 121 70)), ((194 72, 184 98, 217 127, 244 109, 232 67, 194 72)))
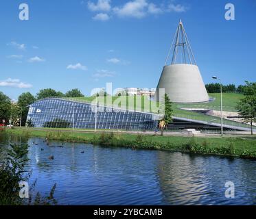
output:
POLYGON ((18 105, 21 108, 21 112, 22 112, 22 117, 21 117, 22 126, 25 126, 25 123, 27 120, 27 113, 29 110, 28 106, 34 103, 34 101, 36 101, 36 98, 30 92, 25 92, 18 97, 18 105))

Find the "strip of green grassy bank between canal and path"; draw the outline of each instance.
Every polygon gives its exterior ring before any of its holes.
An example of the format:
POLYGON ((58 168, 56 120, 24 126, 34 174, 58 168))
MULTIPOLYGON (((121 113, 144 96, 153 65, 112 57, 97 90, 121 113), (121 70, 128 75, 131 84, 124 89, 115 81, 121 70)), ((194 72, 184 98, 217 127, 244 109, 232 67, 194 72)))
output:
POLYGON ((104 146, 124 146, 132 149, 161 149, 203 155, 225 155, 256 159, 256 138, 248 136, 243 138, 144 136, 130 133, 82 133, 19 128, 5 129, 2 132, 25 137, 47 137, 48 140, 85 142, 104 146))

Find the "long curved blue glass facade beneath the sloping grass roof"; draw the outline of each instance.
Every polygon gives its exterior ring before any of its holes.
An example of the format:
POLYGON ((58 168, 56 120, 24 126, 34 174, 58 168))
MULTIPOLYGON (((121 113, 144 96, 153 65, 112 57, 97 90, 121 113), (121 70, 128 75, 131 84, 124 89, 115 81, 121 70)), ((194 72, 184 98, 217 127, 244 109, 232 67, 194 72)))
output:
POLYGON ((27 124, 32 127, 75 129, 152 130, 158 115, 82 103, 58 98, 36 101, 30 105, 27 124))

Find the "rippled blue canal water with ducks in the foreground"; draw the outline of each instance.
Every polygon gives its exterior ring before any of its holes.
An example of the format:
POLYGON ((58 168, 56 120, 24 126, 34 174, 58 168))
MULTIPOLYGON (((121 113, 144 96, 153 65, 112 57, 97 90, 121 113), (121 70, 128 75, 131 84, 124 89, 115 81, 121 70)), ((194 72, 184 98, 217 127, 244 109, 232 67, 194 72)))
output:
MULTIPOLYGON (((169 151, 132 150, 42 138, 0 138, 0 159, 10 143, 29 144, 25 167, 35 191, 58 205, 255 205, 256 162, 169 151), (54 159, 49 159, 53 155, 54 159), (225 183, 235 185, 226 198, 225 183)), ((0 185, 1 186, 1 185, 0 185)))

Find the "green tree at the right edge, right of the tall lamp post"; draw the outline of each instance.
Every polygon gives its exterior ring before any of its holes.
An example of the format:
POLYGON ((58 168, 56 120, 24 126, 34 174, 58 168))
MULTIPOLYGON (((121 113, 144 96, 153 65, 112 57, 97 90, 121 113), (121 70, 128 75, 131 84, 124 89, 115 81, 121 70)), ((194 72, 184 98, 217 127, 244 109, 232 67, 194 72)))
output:
POLYGON ((253 135, 253 122, 256 121, 256 83, 246 81, 244 95, 244 98, 237 103, 237 110, 244 121, 250 123, 251 134, 253 135))

